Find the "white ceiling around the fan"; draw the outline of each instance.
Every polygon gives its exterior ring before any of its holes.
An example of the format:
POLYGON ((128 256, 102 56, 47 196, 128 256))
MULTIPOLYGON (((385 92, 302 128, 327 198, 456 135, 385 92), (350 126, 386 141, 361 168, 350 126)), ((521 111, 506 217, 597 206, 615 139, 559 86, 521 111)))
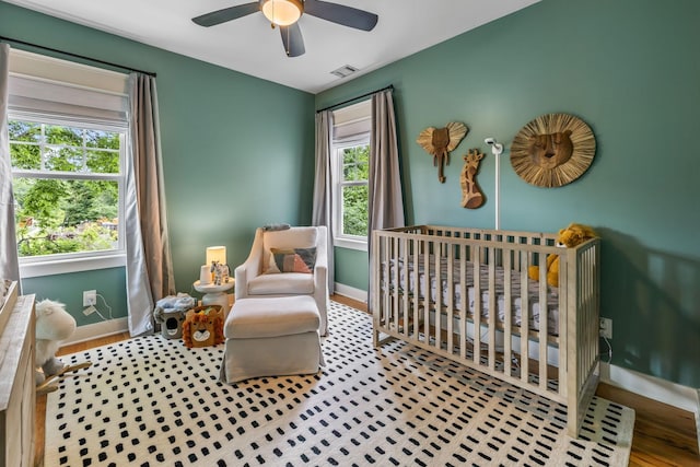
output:
POLYGON ((359 77, 539 0, 332 0, 377 14, 377 25, 364 32, 303 15, 306 54, 295 58, 261 12, 212 27, 191 22, 254 0, 4 1, 315 94, 350 80, 330 74, 345 65, 359 77))

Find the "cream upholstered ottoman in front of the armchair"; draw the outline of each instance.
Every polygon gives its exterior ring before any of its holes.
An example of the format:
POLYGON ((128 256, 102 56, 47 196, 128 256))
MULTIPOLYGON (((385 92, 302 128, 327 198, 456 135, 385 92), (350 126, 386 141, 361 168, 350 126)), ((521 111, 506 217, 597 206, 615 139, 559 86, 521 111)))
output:
POLYGON ((312 296, 236 300, 223 326, 221 381, 317 373, 319 325, 312 296))

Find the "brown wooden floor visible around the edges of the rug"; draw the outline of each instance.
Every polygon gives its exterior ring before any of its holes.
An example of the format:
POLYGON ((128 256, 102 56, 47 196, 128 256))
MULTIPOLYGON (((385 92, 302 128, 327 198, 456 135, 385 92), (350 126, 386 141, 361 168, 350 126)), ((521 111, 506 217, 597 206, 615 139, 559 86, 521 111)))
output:
MULTIPOLYGON (((332 300, 366 312, 364 303, 341 295, 334 295, 332 300)), ((121 332, 89 342, 66 346, 61 348, 59 355, 81 352, 128 338, 127 332, 121 332)), ((696 421, 692 413, 607 384, 600 384, 596 394, 635 411, 634 437, 629 464, 631 467, 700 466, 696 421)), ((44 465, 45 416, 46 396, 37 397, 36 466, 44 465)))

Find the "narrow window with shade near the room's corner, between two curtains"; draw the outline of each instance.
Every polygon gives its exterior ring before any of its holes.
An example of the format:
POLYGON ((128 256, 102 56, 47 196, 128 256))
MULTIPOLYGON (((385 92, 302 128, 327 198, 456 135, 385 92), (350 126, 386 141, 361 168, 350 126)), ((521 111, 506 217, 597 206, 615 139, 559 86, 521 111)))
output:
POLYGON ((334 112, 334 242, 368 249, 371 101, 334 112))

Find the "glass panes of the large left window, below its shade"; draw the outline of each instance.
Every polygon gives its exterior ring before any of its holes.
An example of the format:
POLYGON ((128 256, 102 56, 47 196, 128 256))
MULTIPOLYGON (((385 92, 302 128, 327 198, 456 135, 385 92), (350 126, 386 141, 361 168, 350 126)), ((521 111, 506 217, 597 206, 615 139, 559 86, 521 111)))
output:
POLYGON ((125 130, 12 114, 8 124, 20 258, 122 250, 125 130))

